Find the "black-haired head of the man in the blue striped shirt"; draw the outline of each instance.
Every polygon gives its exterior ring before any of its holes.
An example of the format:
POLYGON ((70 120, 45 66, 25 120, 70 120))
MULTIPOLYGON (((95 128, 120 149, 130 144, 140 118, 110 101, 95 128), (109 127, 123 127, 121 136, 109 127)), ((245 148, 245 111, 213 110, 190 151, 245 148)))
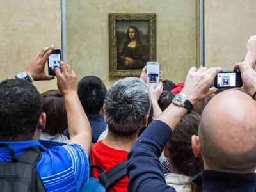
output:
POLYGON ((20 79, 0 83, 1 141, 31 140, 44 120, 41 97, 33 84, 20 79))

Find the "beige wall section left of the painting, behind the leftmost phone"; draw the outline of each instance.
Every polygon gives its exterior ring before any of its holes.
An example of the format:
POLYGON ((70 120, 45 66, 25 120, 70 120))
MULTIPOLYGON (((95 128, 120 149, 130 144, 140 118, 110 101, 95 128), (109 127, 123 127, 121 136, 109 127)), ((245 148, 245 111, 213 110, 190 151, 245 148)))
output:
MULTIPOLYGON (((54 44, 61 47, 60 1, 0 1, 0 80, 15 77, 37 51, 54 44)), ((40 91, 56 82, 39 82, 40 91)))

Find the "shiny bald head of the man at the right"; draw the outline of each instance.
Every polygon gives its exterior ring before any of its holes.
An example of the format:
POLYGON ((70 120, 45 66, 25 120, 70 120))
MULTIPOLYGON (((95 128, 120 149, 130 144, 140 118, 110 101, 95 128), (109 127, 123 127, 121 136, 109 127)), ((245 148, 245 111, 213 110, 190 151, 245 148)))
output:
POLYGON ((256 102, 239 90, 216 95, 200 119, 205 163, 213 170, 245 173, 256 167, 256 102))

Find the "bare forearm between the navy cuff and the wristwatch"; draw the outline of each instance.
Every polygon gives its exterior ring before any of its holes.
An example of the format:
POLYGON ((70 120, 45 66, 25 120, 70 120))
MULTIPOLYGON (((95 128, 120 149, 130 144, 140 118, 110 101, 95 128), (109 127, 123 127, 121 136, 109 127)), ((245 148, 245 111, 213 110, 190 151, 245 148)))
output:
POLYGON ((175 104, 170 104, 163 113, 157 118, 171 127, 172 131, 175 129, 176 125, 179 124, 180 120, 186 115, 187 109, 175 104))

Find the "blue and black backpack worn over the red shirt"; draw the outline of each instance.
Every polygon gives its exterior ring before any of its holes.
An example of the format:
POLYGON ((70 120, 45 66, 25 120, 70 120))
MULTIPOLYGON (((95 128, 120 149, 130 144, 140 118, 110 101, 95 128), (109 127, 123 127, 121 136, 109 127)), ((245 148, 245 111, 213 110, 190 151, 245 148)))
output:
POLYGON ((127 175, 127 159, 116 164, 116 166, 108 170, 108 172, 106 172, 102 166, 92 164, 92 155, 89 158, 89 163, 91 164, 90 178, 88 183, 84 186, 83 192, 106 192, 116 181, 127 175), (100 174, 98 179, 93 177, 93 169, 99 170, 100 174))

